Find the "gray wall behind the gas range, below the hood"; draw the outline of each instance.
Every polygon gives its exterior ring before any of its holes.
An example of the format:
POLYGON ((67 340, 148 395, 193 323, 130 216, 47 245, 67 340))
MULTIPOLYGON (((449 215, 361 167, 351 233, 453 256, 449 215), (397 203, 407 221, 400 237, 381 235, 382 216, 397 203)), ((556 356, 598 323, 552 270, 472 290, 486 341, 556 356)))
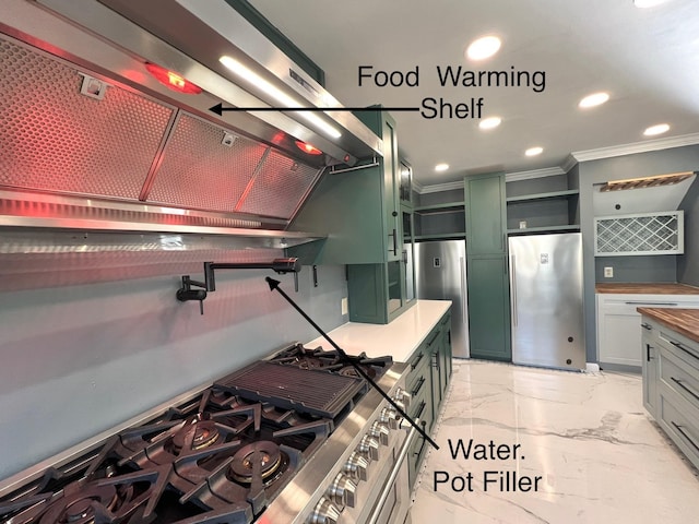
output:
MULTIPOLYGON (((287 342, 318 334, 264 271, 216 273, 204 303, 179 277, 0 293, 0 479, 287 342)), ((282 288, 324 330, 346 321, 344 266, 304 267, 282 288)), ((192 275, 194 276, 194 275, 192 275)))

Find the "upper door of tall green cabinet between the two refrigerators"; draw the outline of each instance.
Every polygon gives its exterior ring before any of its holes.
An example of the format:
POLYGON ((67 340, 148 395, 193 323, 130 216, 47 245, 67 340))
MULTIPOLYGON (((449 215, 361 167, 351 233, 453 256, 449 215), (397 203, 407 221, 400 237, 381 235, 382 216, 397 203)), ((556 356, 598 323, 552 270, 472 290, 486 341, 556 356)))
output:
POLYGON ((466 243, 469 254, 507 251, 505 175, 479 175, 465 179, 466 243))

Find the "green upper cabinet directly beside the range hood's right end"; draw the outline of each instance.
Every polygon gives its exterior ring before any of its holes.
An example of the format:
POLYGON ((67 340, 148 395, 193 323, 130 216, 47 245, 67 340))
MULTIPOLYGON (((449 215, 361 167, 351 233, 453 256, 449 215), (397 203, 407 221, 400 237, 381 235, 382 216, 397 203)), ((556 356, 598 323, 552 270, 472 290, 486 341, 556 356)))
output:
POLYGON ((371 167, 323 175, 292 224, 293 230, 328 236, 316 251, 308 246, 288 251, 304 263, 370 264, 402 258, 395 121, 379 110, 357 117, 382 139, 384 156, 377 165, 371 158, 363 162, 371 167))

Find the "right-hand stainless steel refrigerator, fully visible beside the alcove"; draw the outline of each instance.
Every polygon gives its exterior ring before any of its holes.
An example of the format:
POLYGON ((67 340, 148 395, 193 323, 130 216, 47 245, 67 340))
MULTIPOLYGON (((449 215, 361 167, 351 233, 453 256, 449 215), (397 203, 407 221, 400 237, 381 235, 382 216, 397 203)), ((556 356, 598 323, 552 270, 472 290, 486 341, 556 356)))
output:
POLYGON ((582 237, 509 238, 512 362, 585 369, 582 237))

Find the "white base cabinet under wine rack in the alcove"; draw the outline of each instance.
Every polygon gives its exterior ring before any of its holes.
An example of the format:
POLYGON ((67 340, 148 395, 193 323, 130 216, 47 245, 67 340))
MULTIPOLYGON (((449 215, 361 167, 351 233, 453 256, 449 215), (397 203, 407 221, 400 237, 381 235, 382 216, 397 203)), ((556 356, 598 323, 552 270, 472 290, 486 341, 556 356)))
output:
POLYGON ((643 366, 641 314, 637 308, 699 309, 699 295, 596 295, 597 361, 639 368, 643 366), (639 350, 641 349, 641 350, 639 350))

